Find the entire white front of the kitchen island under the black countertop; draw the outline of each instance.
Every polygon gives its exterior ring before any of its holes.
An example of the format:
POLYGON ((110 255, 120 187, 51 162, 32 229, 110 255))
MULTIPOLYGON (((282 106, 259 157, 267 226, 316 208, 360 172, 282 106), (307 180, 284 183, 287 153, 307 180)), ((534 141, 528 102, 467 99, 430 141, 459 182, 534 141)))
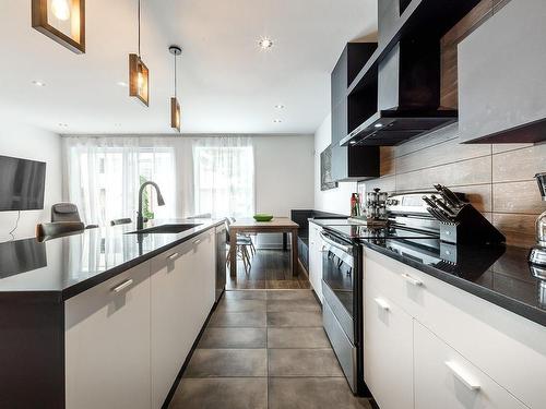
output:
POLYGON ((215 301, 214 228, 66 301, 66 407, 158 409, 215 301))

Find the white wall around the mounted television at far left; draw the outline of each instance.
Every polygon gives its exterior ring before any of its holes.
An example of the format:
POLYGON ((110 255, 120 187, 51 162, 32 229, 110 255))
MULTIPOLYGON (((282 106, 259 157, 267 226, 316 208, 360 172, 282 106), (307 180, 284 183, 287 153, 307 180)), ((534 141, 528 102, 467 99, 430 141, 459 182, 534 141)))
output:
MULTIPOLYGON (((56 133, 38 128, 2 121, 0 155, 40 160, 47 164, 44 210, 22 212, 15 232, 19 238, 33 237, 36 225, 49 220, 51 204, 61 201, 61 139, 56 133)), ((16 217, 16 212, 0 212, 0 241, 10 238, 8 233, 15 226, 16 217)))

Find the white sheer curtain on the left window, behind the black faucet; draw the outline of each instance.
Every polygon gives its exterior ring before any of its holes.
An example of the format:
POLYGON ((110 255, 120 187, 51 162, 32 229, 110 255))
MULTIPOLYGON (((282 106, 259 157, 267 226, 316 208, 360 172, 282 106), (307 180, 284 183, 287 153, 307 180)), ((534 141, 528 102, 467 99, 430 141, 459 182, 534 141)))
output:
POLYGON ((64 197, 78 205, 86 224, 107 225, 117 218, 134 220, 138 192, 145 180, 156 182, 166 205, 157 206, 155 191, 145 209, 154 218, 177 213, 176 154, 167 139, 63 137, 64 197))

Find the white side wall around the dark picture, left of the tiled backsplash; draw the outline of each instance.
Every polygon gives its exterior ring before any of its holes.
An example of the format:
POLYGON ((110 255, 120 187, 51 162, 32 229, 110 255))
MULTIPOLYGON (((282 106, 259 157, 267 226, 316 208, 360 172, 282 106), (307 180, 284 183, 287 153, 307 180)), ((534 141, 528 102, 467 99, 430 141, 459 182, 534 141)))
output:
POLYGON ((351 214, 351 194, 356 182, 341 182, 339 188, 320 190, 320 153, 332 143, 332 117, 329 115, 314 133, 314 208, 317 210, 351 214))

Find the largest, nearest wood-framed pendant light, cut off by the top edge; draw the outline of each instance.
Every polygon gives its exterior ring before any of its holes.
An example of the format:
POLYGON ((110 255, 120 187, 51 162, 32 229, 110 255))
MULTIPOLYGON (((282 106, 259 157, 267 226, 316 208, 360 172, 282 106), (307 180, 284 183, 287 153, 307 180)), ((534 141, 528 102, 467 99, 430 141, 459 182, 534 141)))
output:
POLYGON ((32 25, 75 53, 85 53, 85 0, 32 0, 32 25))

